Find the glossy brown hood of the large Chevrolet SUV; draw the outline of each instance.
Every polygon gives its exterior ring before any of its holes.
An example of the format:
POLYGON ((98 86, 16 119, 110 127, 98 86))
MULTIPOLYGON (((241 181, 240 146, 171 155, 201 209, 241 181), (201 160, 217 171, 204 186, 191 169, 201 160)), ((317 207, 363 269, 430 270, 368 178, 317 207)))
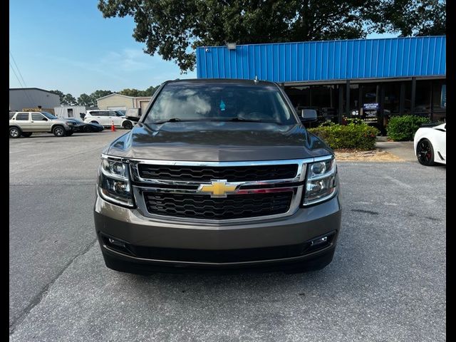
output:
POLYGON ((109 155, 200 162, 286 160, 332 154, 301 125, 274 123, 138 123, 114 140, 109 155))

